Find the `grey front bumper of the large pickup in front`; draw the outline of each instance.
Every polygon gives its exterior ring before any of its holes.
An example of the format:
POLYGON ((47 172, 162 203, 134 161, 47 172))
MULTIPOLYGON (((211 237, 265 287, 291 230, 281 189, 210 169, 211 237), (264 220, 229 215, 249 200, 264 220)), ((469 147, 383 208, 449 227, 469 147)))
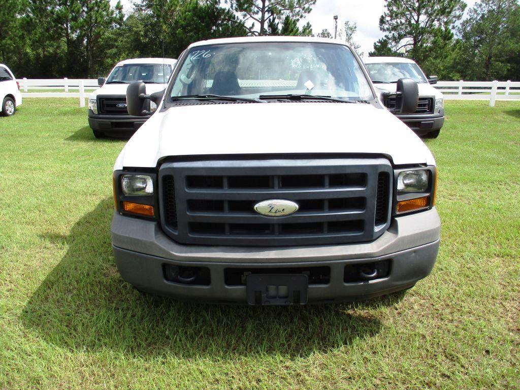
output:
POLYGON ((227 285, 226 268, 330 267, 327 284, 309 284, 309 302, 340 302, 370 298, 412 287, 430 274, 439 248, 440 219, 436 209, 395 218, 383 235, 359 244, 249 248, 181 245, 168 238, 156 222, 114 214, 112 246, 124 280, 140 290, 184 300, 246 303, 244 285, 227 285), (345 283, 346 265, 391 259, 385 278, 345 283), (207 267, 210 285, 167 281, 165 265, 207 267))

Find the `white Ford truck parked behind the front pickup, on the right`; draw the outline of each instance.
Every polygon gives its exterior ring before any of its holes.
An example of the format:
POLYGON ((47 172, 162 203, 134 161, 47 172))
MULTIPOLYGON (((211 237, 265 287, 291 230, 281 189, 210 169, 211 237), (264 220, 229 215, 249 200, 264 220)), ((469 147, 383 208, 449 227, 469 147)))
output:
POLYGON ((437 138, 444 124, 443 94, 431 84, 437 83, 437 76, 426 77, 419 65, 409 58, 369 57, 367 67, 372 83, 381 91, 381 100, 388 110, 395 113, 415 133, 427 138, 437 138), (417 82, 419 101, 417 111, 411 114, 396 113, 395 96, 397 80, 408 77, 417 82))

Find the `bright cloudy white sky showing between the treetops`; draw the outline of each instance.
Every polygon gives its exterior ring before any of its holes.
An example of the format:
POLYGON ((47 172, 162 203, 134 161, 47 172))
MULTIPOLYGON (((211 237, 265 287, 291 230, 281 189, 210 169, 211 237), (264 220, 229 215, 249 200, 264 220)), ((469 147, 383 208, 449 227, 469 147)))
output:
MULTIPOLYGON (((477 0, 465 0, 468 7, 472 7, 477 0)), ((112 4, 117 0, 111 0, 112 4)), ((121 0, 126 11, 131 10, 131 0, 121 0)), ((345 20, 357 24, 357 33, 354 40, 361 45, 361 51, 368 55, 373 44, 383 36, 379 31, 379 17, 384 11, 384 0, 317 0, 306 21, 313 25, 315 34, 323 29, 334 33, 334 15, 338 16, 337 28, 340 31, 345 20)))

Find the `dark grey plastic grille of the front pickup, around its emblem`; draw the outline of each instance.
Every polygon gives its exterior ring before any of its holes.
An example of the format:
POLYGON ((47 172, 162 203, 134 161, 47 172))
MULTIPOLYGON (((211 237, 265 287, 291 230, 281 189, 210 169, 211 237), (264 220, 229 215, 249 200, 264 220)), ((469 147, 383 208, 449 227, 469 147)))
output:
POLYGON ((319 245, 371 241, 386 229, 386 159, 173 162, 159 175, 161 224, 175 241, 211 245, 319 245), (254 205, 296 202, 287 216, 254 205))

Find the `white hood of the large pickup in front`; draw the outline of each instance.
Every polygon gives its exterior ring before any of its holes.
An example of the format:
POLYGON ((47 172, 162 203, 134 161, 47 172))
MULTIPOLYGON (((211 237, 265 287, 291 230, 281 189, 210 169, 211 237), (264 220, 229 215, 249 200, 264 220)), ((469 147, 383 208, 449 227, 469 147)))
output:
POLYGON ((155 167, 168 156, 376 153, 394 164, 431 164, 432 153, 384 108, 331 102, 225 103, 155 112, 114 170, 155 167))

